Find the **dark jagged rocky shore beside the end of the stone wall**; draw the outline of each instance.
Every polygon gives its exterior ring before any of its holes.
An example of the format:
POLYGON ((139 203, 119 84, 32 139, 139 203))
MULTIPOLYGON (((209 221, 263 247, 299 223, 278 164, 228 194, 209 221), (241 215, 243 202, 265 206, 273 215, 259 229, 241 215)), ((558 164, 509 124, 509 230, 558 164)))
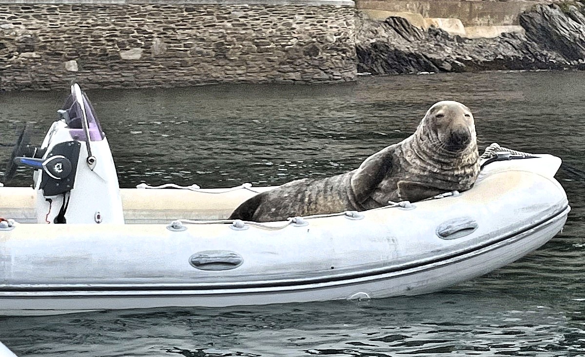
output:
POLYGON ((525 33, 465 39, 421 30, 406 19, 356 20, 358 72, 401 74, 481 70, 585 69, 585 6, 536 5, 519 15, 525 33))

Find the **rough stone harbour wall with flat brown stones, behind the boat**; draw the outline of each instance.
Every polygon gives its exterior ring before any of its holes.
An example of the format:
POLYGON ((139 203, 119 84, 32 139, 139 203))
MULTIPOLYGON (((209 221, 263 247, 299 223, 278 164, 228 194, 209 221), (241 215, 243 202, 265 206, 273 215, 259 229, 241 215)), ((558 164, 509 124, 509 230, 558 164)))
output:
POLYGON ((64 2, 0 1, 0 90, 356 78, 351 1, 64 2))

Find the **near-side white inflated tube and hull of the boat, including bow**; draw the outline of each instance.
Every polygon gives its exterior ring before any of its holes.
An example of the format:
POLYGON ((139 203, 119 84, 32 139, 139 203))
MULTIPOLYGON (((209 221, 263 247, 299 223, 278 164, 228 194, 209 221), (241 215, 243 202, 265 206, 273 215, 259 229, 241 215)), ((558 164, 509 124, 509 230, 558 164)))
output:
POLYGON ((0 231, 0 314, 439 291, 522 258, 565 224, 560 160, 515 161, 490 164, 462 194, 295 224, 17 224, 0 231))

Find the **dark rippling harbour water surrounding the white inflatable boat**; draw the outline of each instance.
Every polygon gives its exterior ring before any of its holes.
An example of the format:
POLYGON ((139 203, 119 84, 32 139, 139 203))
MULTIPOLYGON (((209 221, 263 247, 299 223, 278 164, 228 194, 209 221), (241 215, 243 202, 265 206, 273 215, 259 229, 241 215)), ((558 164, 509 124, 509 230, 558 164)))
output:
MULTIPOLYGON (((122 187, 281 184, 347 171, 414 131, 434 102, 474 112, 491 142, 585 166, 585 73, 360 78, 340 85, 88 91, 122 187)), ((0 94, 0 143, 34 122, 39 143, 67 94, 0 94)), ((0 162, 10 155, 0 147, 0 162)), ((0 174, 2 169, 0 169, 0 174)), ((19 170, 13 184, 30 184, 19 170)), ((441 293, 230 308, 0 317, 19 356, 583 356, 585 178, 561 170, 573 210, 536 252, 441 293)))

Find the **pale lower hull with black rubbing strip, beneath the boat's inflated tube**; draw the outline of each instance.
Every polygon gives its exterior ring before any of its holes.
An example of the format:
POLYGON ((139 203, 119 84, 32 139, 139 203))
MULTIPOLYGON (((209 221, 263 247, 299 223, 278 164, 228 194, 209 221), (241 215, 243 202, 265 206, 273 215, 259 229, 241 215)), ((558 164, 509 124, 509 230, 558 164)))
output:
MULTIPOLYGON (((553 218, 473 252, 408 269, 353 279, 290 286, 133 290, 2 291, 4 315, 47 315, 88 310, 154 307, 222 307, 326 300, 363 300, 432 293, 491 272, 538 249, 565 224, 569 207, 553 218)), ((136 286, 134 288, 140 288, 136 286)))

